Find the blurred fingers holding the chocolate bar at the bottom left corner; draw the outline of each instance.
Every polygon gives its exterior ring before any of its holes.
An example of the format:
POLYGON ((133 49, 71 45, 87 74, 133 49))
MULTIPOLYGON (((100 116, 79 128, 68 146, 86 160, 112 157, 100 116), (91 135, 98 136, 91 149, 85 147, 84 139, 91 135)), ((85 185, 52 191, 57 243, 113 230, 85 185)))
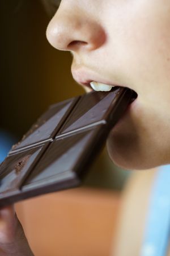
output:
POLYGON ((13 206, 0 208, 0 255, 33 255, 13 206))

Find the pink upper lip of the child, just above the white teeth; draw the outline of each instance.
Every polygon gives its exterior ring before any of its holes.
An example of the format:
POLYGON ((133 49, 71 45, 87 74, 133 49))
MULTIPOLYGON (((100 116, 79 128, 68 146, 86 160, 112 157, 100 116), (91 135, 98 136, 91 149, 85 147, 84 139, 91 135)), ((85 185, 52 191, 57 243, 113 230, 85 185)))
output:
POLYGON ((76 82, 78 82, 78 84, 85 85, 90 88, 91 88, 90 82, 92 82, 92 81, 101 82, 103 84, 112 85, 112 86, 123 86, 123 85, 117 84, 115 82, 108 81, 108 80, 104 79, 103 77, 101 77, 96 72, 91 71, 86 68, 83 68, 83 67, 81 67, 81 68, 72 67, 71 73, 73 75, 74 80, 76 82))

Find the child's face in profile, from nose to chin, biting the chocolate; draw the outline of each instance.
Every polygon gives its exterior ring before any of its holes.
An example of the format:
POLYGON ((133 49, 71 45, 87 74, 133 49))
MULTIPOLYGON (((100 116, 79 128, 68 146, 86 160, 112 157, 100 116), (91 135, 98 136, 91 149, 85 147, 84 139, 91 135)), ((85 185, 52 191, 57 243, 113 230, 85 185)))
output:
POLYGON ((46 32, 52 46, 72 53, 79 84, 138 93, 107 142, 124 168, 170 163, 169 14, 169 0, 62 0, 46 32))

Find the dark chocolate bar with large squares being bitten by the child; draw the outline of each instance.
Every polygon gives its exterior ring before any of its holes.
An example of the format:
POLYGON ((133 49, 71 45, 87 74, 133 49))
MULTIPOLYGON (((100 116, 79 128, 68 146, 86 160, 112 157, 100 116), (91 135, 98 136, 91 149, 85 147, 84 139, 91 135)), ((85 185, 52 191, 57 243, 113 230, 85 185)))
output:
POLYGON ((133 95, 116 87, 50 106, 1 164, 0 206, 80 185, 133 95))

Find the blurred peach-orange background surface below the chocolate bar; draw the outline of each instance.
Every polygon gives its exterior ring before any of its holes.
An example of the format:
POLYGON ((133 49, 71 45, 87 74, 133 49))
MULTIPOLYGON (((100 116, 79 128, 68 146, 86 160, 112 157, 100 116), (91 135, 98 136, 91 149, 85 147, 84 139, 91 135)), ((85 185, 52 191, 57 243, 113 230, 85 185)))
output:
POLYGON ((76 188, 18 203, 35 256, 109 256, 120 196, 76 188))

